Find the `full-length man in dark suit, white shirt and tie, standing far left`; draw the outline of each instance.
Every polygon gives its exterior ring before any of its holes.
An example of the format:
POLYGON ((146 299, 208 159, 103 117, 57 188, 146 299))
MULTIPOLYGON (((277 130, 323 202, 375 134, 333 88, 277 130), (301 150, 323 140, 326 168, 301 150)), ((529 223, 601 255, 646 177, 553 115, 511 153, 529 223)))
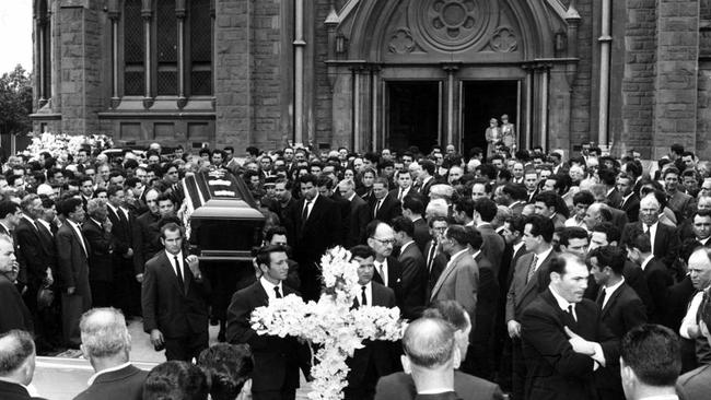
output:
POLYGON ((57 231, 57 282, 61 290, 62 337, 68 346, 78 349, 79 319, 92 305, 89 283, 89 255, 91 246, 80 224, 85 211, 80 199, 69 198, 59 203, 65 223, 57 231))

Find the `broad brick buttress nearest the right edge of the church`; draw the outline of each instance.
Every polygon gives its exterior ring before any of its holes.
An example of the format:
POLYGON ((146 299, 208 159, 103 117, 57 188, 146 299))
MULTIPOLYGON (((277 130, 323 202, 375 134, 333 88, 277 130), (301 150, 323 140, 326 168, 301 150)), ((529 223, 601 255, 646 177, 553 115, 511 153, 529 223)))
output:
POLYGON ((673 143, 696 146, 699 1, 658 0, 656 24, 654 158, 673 143))

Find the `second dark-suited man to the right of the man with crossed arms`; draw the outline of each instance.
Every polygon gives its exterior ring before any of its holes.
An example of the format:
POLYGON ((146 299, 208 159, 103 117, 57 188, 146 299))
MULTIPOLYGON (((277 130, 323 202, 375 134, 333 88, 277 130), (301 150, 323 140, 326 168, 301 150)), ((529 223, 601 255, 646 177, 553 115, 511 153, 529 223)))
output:
POLYGON ((640 234, 628 242, 626 246, 627 257, 644 271, 646 285, 654 304, 654 313, 649 317, 650 322, 672 326, 668 293, 669 287, 674 284, 674 279, 664 262, 652 254, 650 236, 644 233, 640 234))

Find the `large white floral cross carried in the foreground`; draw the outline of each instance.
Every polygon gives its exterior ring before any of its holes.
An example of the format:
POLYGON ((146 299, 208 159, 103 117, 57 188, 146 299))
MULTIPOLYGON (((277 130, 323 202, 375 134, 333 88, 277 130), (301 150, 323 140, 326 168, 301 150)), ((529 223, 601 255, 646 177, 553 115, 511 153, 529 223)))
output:
POLYGON ((308 398, 339 400, 348 385, 350 368, 346 360, 363 348, 364 340, 399 340, 405 322, 397 307, 351 309, 359 287, 359 264, 351 260, 349 251, 333 248, 322 257, 320 266, 326 290, 318 303, 304 303, 299 296, 288 295, 255 309, 250 321, 258 334, 292 336, 319 344, 308 398))

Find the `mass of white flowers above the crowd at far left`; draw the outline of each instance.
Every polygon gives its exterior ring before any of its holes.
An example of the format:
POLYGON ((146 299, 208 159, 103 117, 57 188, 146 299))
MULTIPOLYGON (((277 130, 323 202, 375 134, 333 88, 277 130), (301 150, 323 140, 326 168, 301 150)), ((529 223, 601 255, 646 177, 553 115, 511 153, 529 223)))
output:
POLYGON ((66 133, 38 133, 33 134, 32 143, 22 154, 32 160, 39 160, 42 153, 47 152, 53 157, 66 161, 68 155, 75 156, 80 149, 89 146, 92 152, 102 151, 114 146, 114 141, 106 134, 66 134, 66 133))

